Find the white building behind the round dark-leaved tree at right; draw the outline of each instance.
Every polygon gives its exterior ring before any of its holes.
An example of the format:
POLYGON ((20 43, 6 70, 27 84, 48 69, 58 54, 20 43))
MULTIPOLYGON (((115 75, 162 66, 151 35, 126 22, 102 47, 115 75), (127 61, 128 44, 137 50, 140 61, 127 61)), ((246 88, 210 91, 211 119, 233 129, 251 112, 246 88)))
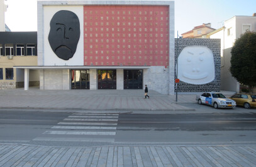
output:
POLYGON ((235 40, 246 31, 256 31, 256 15, 234 16, 224 26, 208 34, 208 38, 221 39, 221 89, 240 92, 240 84, 230 73, 231 49, 235 40))

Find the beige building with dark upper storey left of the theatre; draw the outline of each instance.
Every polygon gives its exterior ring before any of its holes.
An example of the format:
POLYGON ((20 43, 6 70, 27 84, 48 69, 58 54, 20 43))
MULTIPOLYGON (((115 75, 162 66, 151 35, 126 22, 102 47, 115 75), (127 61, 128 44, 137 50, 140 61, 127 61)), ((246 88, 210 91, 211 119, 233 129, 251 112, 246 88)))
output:
MULTIPOLYGON (((0 32, 0 89, 24 86, 24 69, 14 66, 37 65, 36 32, 0 32)), ((38 70, 31 70, 30 86, 39 86, 38 70)))

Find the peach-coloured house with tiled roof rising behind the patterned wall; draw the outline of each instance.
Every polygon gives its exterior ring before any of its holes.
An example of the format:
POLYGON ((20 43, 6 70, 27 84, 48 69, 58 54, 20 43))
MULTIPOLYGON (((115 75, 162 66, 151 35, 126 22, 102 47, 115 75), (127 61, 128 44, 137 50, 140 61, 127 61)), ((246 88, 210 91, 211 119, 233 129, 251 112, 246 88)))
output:
POLYGON ((203 23, 202 25, 196 26, 191 31, 187 31, 181 35, 182 38, 206 38, 206 35, 214 30, 214 28, 211 28, 211 23, 203 23))

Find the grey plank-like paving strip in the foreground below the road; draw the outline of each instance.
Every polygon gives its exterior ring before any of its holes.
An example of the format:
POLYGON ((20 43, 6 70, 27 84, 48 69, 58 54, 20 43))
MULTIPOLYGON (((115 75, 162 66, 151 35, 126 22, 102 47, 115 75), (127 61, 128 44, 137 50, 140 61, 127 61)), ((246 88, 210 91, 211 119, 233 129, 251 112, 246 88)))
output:
POLYGON ((256 146, 77 148, 0 144, 0 166, 256 166, 256 146))

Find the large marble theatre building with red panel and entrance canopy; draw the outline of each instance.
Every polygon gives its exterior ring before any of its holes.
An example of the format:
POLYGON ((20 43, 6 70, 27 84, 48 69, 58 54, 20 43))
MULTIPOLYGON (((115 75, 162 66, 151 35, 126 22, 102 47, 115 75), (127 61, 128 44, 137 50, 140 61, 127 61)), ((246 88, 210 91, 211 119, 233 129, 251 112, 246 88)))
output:
POLYGON ((38 66, 16 68, 40 89, 174 94, 174 47, 173 1, 38 1, 38 66))

